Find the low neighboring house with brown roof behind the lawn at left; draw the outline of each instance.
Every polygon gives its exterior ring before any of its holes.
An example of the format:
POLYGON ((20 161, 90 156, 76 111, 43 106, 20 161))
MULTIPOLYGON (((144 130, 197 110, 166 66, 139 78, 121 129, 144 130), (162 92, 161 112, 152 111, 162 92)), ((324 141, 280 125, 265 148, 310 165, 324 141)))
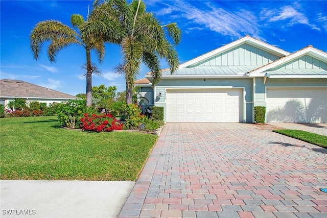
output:
POLYGON ((21 80, 0 80, 0 103, 6 107, 10 101, 17 98, 25 99, 27 103, 37 101, 40 103, 44 102, 47 105, 53 102, 78 99, 76 96, 21 80))

